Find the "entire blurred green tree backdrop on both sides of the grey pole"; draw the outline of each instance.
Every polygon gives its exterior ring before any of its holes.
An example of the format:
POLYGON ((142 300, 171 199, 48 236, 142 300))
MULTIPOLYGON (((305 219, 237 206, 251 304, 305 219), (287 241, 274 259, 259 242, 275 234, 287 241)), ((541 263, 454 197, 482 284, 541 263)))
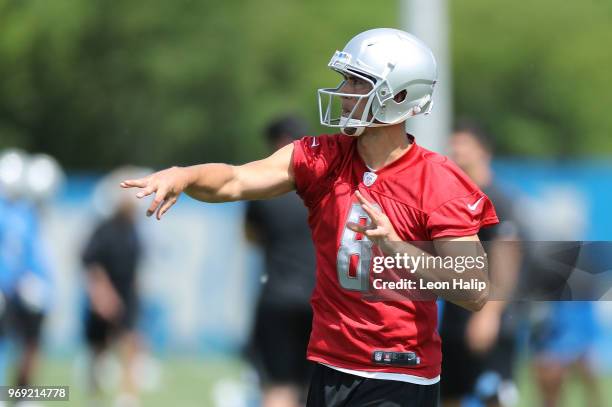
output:
MULTIPOLYGON (((612 5, 449 2, 458 115, 504 154, 612 152, 612 5)), ((272 117, 313 131, 335 48, 398 25, 398 3, 0 0, 0 148, 70 169, 239 162, 272 117), (376 11, 376 12, 374 12, 376 11)))

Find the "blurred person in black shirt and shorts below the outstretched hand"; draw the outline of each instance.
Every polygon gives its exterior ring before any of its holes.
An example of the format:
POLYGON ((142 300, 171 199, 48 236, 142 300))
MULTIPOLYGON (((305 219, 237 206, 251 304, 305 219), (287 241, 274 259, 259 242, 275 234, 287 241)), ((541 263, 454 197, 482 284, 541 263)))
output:
MULTIPOLYGON (((87 310, 85 335, 91 351, 90 386, 94 399, 104 387, 103 360, 106 352, 117 347, 122 365, 122 394, 118 406, 139 405, 134 377, 140 351, 136 331, 138 318, 137 267, 141 258, 141 239, 136 230, 136 200, 129 194, 108 190, 108 185, 127 174, 130 168, 118 169, 99 185, 111 202, 108 217, 95 227, 83 252, 86 267, 87 310)), ((99 192, 98 191, 98 192, 99 192)))

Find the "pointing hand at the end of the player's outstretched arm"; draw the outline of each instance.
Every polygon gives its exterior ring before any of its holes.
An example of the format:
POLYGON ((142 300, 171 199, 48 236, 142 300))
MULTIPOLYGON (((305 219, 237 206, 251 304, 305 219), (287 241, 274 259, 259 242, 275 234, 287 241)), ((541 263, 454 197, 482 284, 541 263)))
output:
POLYGON ((185 168, 172 167, 144 178, 125 180, 120 185, 122 188, 140 188, 141 191, 136 194, 139 199, 155 194, 147 209, 147 216, 155 213, 157 220, 160 220, 187 188, 188 181, 185 168))

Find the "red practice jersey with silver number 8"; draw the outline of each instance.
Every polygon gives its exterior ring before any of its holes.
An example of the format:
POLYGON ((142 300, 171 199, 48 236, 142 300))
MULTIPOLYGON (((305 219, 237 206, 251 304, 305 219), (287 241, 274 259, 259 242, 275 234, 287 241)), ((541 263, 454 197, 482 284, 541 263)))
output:
POLYGON ((412 147, 375 177, 357 152, 356 137, 322 135, 294 142, 296 189, 309 210, 317 256, 308 345, 312 361, 426 379, 440 375, 435 301, 366 301, 367 288, 356 285, 349 257, 355 257, 355 240, 362 237, 346 223, 364 221, 367 215, 355 191, 380 207, 404 241, 470 236, 498 219, 489 199, 454 163, 408 137, 412 147), (373 352, 380 350, 414 352, 419 363, 375 364, 373 352))

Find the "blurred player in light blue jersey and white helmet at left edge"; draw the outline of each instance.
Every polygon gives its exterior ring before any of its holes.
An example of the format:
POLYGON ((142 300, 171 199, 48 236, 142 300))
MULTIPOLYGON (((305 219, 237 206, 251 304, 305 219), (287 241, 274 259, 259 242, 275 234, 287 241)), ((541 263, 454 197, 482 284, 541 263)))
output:
POLYGON ((0 179, 4 190, 0 249, 5 325, 17 346, 16 374, 11 384, 27 386, 33 384, 41 329, 53 293, 39 216, 60 187, 63 174, 50 156, 8 150, 0 155, 0 179))

